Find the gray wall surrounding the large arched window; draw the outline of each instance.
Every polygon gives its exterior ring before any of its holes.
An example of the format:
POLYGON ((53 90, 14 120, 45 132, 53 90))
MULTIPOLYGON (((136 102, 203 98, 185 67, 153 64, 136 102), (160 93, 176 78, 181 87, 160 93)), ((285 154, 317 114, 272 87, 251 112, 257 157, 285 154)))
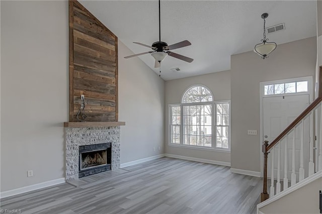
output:
POLYGON ((183 93, 191 85, 196 84, 207 86, 212 91, 214 100, 230 99, 230 71, 222 71, 166 81, 166 153, 214 161, 230 162, 230 153, 169 146, 169 104, 180 103, 183 93))

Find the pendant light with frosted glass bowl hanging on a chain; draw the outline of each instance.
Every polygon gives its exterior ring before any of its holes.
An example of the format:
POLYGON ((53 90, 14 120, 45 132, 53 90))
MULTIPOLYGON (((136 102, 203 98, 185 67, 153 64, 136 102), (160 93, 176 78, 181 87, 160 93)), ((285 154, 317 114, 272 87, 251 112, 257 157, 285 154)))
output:
POLYGON ((254 52, 259 54, 262 59, 268 58, 268 55, 272 53, 276 47, 277 44, 275 42, 268 42, 269 39, 266 39, 266 31, 265 31, 265 19, 268 17, 268 13, 262 14, 261 18, 264 19, 264 34, 263 34, 263 39, 261 40, 262 43, 259 43, 255 45, 254 52))

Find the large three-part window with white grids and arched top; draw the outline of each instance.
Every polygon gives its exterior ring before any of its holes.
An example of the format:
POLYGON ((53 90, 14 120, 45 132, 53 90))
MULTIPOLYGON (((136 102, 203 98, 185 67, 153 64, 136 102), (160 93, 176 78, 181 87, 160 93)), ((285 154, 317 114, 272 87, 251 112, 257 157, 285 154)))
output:
POLYGON ((182 103, 170 105, 170 144, 229 150, 229 104, 214 101, 205 86, 190 87, 182 103))

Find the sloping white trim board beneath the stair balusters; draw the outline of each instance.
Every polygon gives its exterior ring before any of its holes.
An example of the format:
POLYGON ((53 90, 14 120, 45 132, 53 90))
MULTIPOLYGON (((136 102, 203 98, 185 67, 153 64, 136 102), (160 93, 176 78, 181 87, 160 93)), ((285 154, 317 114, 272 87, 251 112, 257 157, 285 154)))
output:
POLYGON ((293 186, 288 187, 287 189, 281 191, 280 193, 278 193, 277 195, 274 195, 270 198, 268 198, 267 200, 264 200, 263 202, 257 204, 257 210, 259 210, 260 208, 266 206, 269 203, 272 203, 278 199, 280 199, 281 197, 284 197, 285 195, 305 186, 306 184, 309 184, 310 182, 322 178, 322 171, 316 172, 313 175, 310 175, 309 177, 305 178, 304 180, 294 184, 293 186))

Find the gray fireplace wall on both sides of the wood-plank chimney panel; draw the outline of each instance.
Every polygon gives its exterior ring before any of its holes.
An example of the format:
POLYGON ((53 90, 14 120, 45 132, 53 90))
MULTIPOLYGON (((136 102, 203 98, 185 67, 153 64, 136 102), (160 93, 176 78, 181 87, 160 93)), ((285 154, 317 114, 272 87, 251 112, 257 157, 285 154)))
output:
MULTIPOLYGON (((1 191, 6 191, 65 176, 68 3, 0 4, 1 191), (30 169, 33 177, 27 177, 30 169)), ((129 53, 119 42, 119 58, 129 53)), ((120 59, 119 121, 126 122, 121 163, 164 153, 164 81, 138 59, 120 59)))

